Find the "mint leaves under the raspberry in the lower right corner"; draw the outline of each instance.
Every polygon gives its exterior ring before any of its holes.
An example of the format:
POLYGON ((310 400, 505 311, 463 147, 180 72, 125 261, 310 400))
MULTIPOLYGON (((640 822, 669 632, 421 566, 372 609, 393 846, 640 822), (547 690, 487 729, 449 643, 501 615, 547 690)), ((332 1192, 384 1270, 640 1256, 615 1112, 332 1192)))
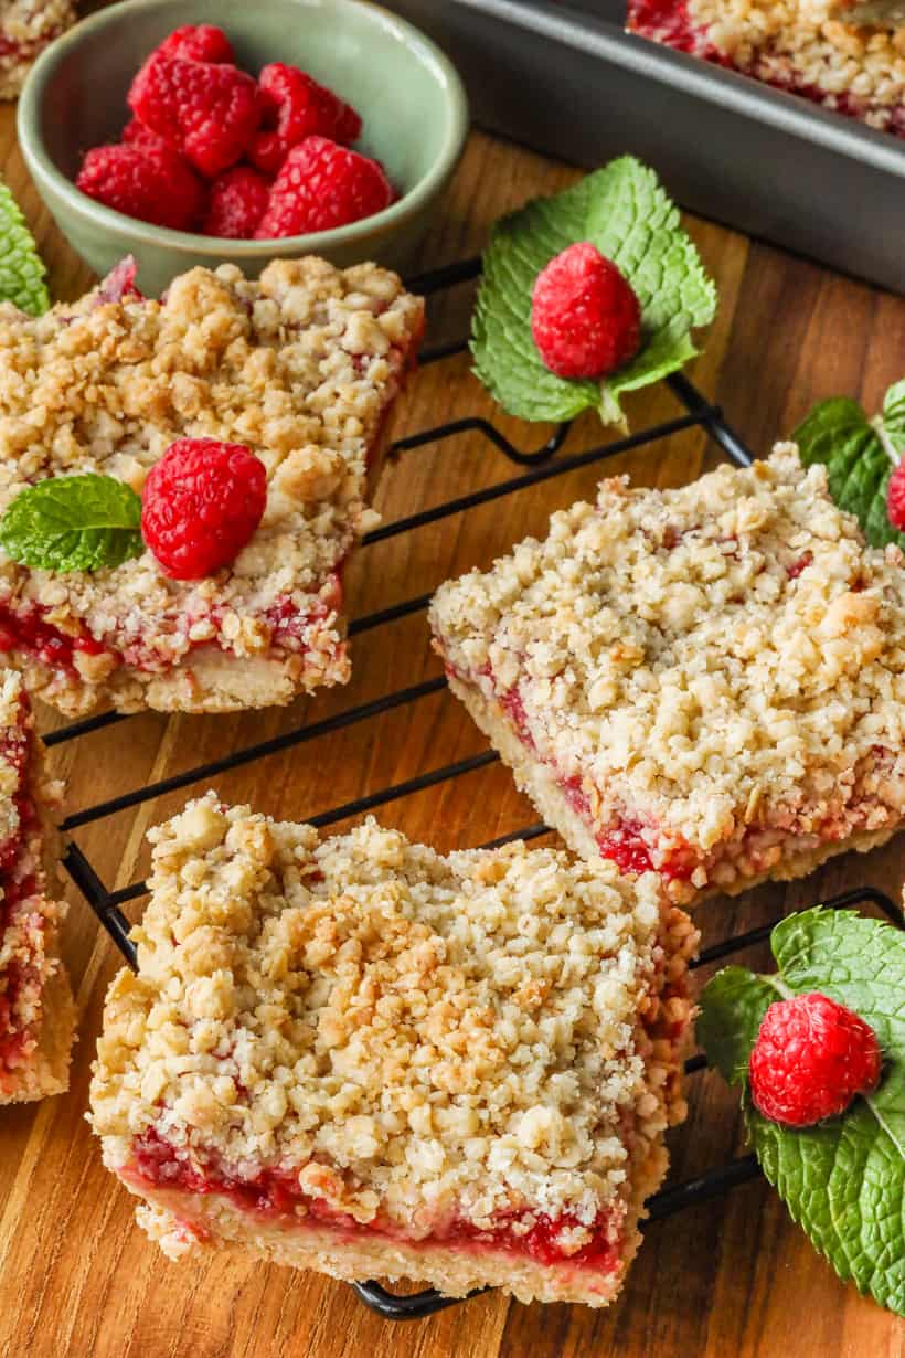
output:
POLYGON ((905 933, 847 910, 809 910, 773 929, 779 971, 720 971, 701 994, 697 1036, 744 1085, 748 1134, 792 1219, 843 1279, 905 1316, 905 933), (871 1025, 878 1089, 815 1127, 769 1122, 748 1093, 748 1061, 768 1006, 818 990, 871 1025))

